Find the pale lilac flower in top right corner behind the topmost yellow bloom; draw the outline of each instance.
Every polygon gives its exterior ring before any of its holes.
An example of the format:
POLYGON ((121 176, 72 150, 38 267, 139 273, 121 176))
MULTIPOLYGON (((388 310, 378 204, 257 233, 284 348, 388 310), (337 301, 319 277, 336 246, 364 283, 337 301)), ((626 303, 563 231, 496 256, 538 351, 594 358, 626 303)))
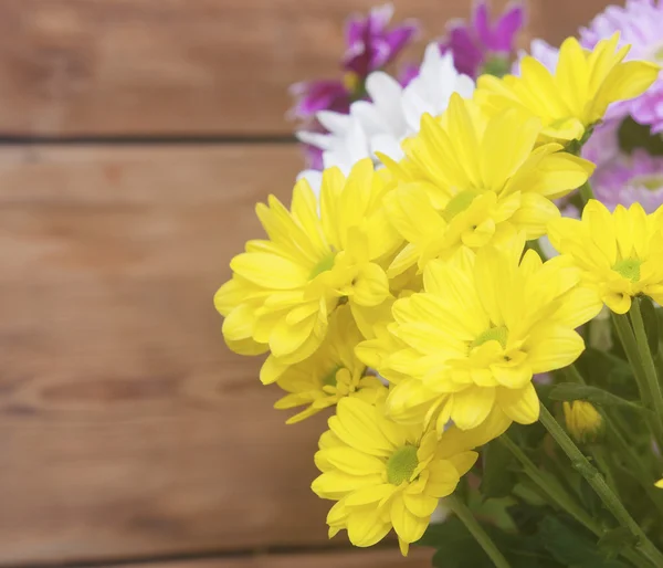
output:
MULTIPOLYGON (((583 48, 593 49, 602 39, 620 32, 620 46, 631 45, 627 60, 663 63, 663 0, 628 0, 625 7, 609 6, 588 28, 580 30, 583 48)), ((612 105, 608 116, 631 115, 640 124, 663 132, 663 75, 638 98, 612 105)))

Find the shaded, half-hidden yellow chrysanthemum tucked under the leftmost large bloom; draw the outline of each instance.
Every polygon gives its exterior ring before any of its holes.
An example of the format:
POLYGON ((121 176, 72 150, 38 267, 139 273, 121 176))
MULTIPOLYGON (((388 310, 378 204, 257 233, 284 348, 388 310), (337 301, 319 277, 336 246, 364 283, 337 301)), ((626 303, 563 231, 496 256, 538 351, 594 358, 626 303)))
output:
POLYGON ((366 375, 366 365, 355 355, 355 346, 362 339, 349 307, 336 309, 318 350, 288 367, 276 381, 288 395, 278 400, 274 408, 306 406, 286 423, 299 422, 333 407, 344 397, 359 397, 375 404, 385 396, 382 382, 375 376, 366 375))

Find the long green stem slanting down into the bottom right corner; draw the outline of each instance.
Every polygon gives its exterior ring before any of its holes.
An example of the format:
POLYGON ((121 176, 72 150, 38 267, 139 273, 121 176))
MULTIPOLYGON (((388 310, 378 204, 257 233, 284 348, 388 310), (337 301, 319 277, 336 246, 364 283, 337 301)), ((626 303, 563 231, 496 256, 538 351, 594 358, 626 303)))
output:
POLYGON ((544 428, 559 444, 569 460, 571 460, 572 466, 594 490, 599 498, 603 502, 606 508, 612 513, 621 526, 625 527, 638 539, 636 550, 640 551, 654 566, 663 566, 663 555, 651 543, 642 528, 640 528, 640 525, 633 520, 633 517, 631 517, 629 512, 622 505, 621 501, 619 501, 617 495, 608 486, 603 476, 591 463, 589 463, 585 454, 567 435, 557 420, 555 420, 552 414, 548 412, 548 409, 544 404, 540 406, 540 409, 539 420, 544 428))

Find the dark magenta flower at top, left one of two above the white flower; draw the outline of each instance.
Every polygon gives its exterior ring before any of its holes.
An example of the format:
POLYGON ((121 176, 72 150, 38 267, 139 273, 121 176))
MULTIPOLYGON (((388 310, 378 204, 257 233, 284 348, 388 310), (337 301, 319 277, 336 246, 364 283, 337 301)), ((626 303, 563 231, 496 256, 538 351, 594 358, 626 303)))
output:
POLYGON ((391 63, 419 31, 415 22, 409 21, 388 29, 393 6, 373 8, 368 18, 352 17, 346 25, 348 49, 343 57, 346 72, 366 78, 371 71, 378 71, 391 63))

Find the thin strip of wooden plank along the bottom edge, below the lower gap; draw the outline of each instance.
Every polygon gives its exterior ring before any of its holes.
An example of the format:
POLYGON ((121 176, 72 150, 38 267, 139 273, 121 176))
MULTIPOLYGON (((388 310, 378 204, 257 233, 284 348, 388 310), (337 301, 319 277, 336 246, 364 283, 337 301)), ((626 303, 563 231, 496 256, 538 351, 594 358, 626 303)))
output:
MULTIPOLYGON (((140 564, 140 568, 430 568, 428 549, 412 549, 403 558, 397 549, 354 550, 296 555, 260 555, 248 558, 183 560, 140 564)), ((108 568, 131 568, 131 565, 108 568)), ((137 567, 138 568, 138 567, 137 567)))

